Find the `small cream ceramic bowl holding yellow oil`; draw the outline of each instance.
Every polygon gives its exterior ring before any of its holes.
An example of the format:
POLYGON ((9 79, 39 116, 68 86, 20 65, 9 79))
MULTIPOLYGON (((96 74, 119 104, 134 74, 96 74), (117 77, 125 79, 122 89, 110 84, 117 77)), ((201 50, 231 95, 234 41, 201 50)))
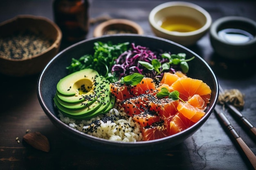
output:
MULTIPOLYGON (((195 44, 209 30, 211 15, 202 7, 189 2, 166 2, 155 7, 149 14, 149 23, 156 36, 177 42, 184 46, 195 44), (198 28, 193 31, 169 31, 162 28, 162 22, 168 17, 184 17, 198 22, 198 28)), ((188 24, 185 22, 183 24, 188 24)))

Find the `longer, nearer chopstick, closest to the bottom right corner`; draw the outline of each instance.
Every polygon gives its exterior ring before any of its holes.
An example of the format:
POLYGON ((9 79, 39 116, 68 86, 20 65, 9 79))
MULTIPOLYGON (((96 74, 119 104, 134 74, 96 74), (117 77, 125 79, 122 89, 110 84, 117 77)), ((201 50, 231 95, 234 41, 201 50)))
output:
POLYGON ((225 128, 227 129, 227 132, 229 132, 229 134, 234 137, 236 143, 238 144, 238 146, 240 146, 240 148, 243 150, 243 152, 245 153, 246 157, 249 159, 250 163, 252 164, 252 166, 254 167, 254 169, 256 170, 256 156, 254 155, 254 153, 252 152, 252 150, 247 146, 247 144, 245 144, 245 142, 243 141, 243 139, 238 135, 238 133, 236 132, 236 130, 234 129, 234 127, 231 125, 230 121, 227 119, 227 117, 224 115, 224 113, 222 111, 220 111, 217 106, 215 107, 215 113, 218 116, 218 118, 220 119, 220 122, 225 126, 225 128))

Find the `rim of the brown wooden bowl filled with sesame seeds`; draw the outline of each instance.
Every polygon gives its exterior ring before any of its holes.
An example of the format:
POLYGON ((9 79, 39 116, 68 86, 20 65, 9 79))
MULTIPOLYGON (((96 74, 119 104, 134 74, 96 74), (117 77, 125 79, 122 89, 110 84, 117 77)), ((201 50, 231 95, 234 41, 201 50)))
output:
POLYGON ((45 21, 45 22, 51 24, 54 27, 54 29, 57 31, 56 39, 54 40, 54 42, 52 42, 52 45, 49 46, 47 49, 45 49, 44 51, 42 51, 39 54, 31 56, 30 58, 12 59, 12 58, 3 58, 3 57, 0 56, 1 59, 13 61, 13 62, 32 60, 33 58, 36 58, 36 57, 38 57, 40 55, 43 55, 44 53, 47 53, 48 51, 51 51, 52 49, 58 49, 59 48, 59 45, 61 44, 61 39, 62 39, 62 31, 58 27, 58 25, 55 24, 55 22, 53 22, 49 18, 46 18, 46 17, 43 17, 43 16, 39 16, 39 15, 29 15, 29 14, 16 15, 13 18, 10 18, 8 20, 5 20, 5 21, 1 22, 0 26, 6 25, 6 24, 11 24, 12 22, 16 22, 16 21, 22 20, 22 19, 29 19, 31 21, 33 21, 33 20, 41 20, 41 21, 45 21))

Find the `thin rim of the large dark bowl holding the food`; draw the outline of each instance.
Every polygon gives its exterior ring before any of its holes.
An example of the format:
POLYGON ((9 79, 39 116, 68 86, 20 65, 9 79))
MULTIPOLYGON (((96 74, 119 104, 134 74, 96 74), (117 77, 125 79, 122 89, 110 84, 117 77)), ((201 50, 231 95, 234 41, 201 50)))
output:
POLYGON ((159 38, 159 37, 156 37, 156 36, 153 36, 153 35, 138 35, 138 34, 113 34, 113 35, 103 35, 101 37, 95 37, 95 38, 88 38, 86 40, 83 40, 81 42, 77 42, 76 44, 73 44, 69 47, 67 47, 66 49, 64 49, 63 51, 61 51, 60 53, 58 53, 55 57, 52 58, 52 60, 50 60, 48 62, 48 64, 45 66, 45 68, 43 69, 43 71, 40 73, 39 77, 38 77, 38 82, 37 82, 37 96, 38 96, 38 100, 39 100, 39 103, 41 105, 41 107, 43 108, 45 114, 47 115, 47 117, 49 117, 49 119, 51 121, 53 121, 54 123, 57 123, 57 124, 61 124, 62 127, 64 127, 64 130, 67 130, 67 132, 75 132, 75 135, 79 135, 80 137, 83 137, 83 138, 86 138, 86 139, 90 139, 90 141, 96 141, 96 142, 101 142, 101 144, 108 144, 110 146, 114 146, 116 144, 119 144, 120 146, 122 147, 133 147, 133 146, 141 146, 141 145, 150 145, 150 144, 153 144, 155 142, 157 142, 158 144, 160 143, 164 143, 164 141, 168 140, 168 138, 177 138, 180 134, 183 134, 183 135, 186 135, 187 133, 189 133, 189 131, 191 131, 193 129, 194 126, 197 126, 198 128, 200 126, 202 126, 202 123, 201 122, 205 122, 209 116, 211 115, 211 113, 213 112, 213 109, 215 108, 216 104, 217 104, 217 100, 218 100, 218 94, 219 94, 219 89, 218 89, 218 80, 216 78, 216 75, 214 74, 213 70, 211 69, 211 67, 209 66, 209 64, 207 64, 207 62, 202 59, 202 57, 200 57, 199 55, 197 55, 195 52, 191 51, 190 49, 186 48, 185 46, 182 46, 180 44, 177 44, 171 40, 166 40, 164 38, 159 38), (149 39, 154 39, 154 40, 160 40, 160 41, 165 41, 165 42, 168 42, 172 45, 175 45, 175 46, 179 46, 183 49, 185 49, 186 51, 189 51, 190 53, 193 53, 193 55, 196 55, 198 57, 198 60, 201 60, 205 66, 209 69, 209 71, 211 72, 211 75, 213 76, 213 80, 214 82, 216 83, 216 96, 215 98, 213 99, 213 106, 211 106, 208 110, 208 112, 200 119, 200 121, 196 122, 195 124, 193 124, 191 127, 187 128, 186 130, 183 130, 182 132, 178 132, 177 134, 174 134, 174 135, 171 135, 171 136, 168 136, 168 137, 164 137, 164 138, 161 138, 161 139, 155 139, 155 140, 151 140, 151 141, 136 141, 136 142, 126 142, 126 141, 110 141, 108 139, 102 139, 102 138, 99 138, 99 137, 94 137, 92 135, 88 135, 88 134, 85 134, 83 132, 80 132, 79 130, 76 130, 74 128, 71 128, 70 126, 68 126, 67 124, 63 123, 54 113, 52 113, 49 108, 47 107, 47 104, 43 101, 43 96, 42 96, 42 91, 41 91, 41 84, 42 84, 42 79, 43 77, 45 76, 44 73, 47 72, 47 69, 48 67, 52 64, 52 62, 54 62, 54 60, 58 57, 60 57, 63 53, 65 53, 65 51, 69 51, 70 49, 72 49, 74 46, 77 46, 79 44, 83 44, 85 42, 88 42, 88 41, 92 41, 92 40, 98 40, 98 39, 101 39, 101 38, 108 38, 108 37, 119 37, 119 36, 123 36, 123 37, 126 37, 126 36, 132 36, 134 38, 136 37, 144 37, 144 38, 149 38, 149 39))

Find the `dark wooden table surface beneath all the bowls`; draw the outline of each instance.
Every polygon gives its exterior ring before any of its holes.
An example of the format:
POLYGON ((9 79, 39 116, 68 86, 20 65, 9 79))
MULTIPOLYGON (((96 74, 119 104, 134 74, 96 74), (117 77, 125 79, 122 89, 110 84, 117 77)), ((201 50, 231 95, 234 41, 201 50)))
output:
MULTIPOLYGON (((188 0, 206 9, 213 21, 239 15, 256 21, 256 1, 248 0, 188 0)), ((144 33, 154 35, 148 14, 164 0, 92 0, 90 17, 109 15, 133 20, 144 33)), ((0 22, 18 14, 42 15, 53 19, 52 0, 8 0, 0 2, 0 22)), ((97 24, 90 26, 88 38, 97 24)), ((62 47, 64 48, 64 47, 62 47)), ((209 33, 194 46, 215 72, 224 89, 239 89, 245 94, 242 113, 256 125, 256 60, 234 62, 216 55, 209 33)), ((255 50, 255 49, 252 49, 255 50)), ((38 75, 15 78, 0 75, 0 169, 1 170, 81 170, 81 169, 184 169, 243 170, 251 169, 243 155, 214 113, 207 122, 176 147, 147 155, 116 155, 95 151, 62 134, 43 112, 36 95, 38 75), (22 141, 26 130, 41 132, 50 142, 50 152, 36 150, 22 141), (19 137, 20 143, 16 141, 19 137)), ((231 124, 249 148, 256 154, 256 141, 226 113, 231 124)))

